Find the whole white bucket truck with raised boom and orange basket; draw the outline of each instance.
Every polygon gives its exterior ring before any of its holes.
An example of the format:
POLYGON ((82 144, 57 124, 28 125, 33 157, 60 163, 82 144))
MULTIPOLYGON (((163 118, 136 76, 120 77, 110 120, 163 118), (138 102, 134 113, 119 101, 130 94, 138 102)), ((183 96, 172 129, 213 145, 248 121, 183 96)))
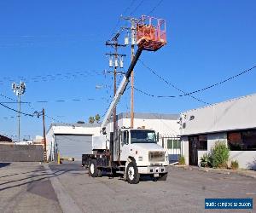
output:
POLYGON ((152 19, 152 17, 143 16, 142 20, 137 23, 137 32, 140 33, 137 35, 137 53, 119 84, 116 95, 102 121, 101 136, 92 137, 92 154, 82 155, 82 165, 89 168, 89 175, 92 177, 100 177, 102 173, 123 176, 124 180, 131 184, 138 183, 141 176, 152 176, 154 180, 166 181, 168 153, 157 144, 157 135, 154 130, 123 127, 114 130, 113 133, 106 131, 113 109, 121 95, 124 94, 131 72, 143 49, 156 51, 166 44, 166 27, 160 27, 165 25, 164 20, 157 20, 157 26, 153 26, 152 19), (151 28, 154 28, 154 31, 150 31, 153 33, 150 37, 143 34, 146 32, 143 31, 143 27, 148 27, 144 23, 147 18, 151 28), (164 32, 160 29, 164 29, 164 32), (158 35, 161 36, 158 37, 158 35))

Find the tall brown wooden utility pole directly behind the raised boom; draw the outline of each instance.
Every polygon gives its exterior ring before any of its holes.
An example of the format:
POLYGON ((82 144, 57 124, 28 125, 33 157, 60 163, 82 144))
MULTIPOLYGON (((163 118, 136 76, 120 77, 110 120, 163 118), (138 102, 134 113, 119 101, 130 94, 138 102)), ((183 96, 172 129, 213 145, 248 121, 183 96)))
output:
MULTIPOLYGON (((136 21, 131 17, 123 17, 124 20, 131 22, 131 27, 122 27, 122 29, 131 31, 131 61, 134 58, 134 48, 136 44, 136 21)), ((125 44, 129 43, 129 37, 125 37, 125 44)), ((134 127, 134 71, 131 72, 131 129, 134 127)))

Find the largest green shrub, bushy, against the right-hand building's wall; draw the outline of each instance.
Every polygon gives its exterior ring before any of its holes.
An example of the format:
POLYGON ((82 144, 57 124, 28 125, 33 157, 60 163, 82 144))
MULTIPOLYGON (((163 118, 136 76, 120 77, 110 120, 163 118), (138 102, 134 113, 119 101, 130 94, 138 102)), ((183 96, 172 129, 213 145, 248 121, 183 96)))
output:
POLYGON ((227 168, 230 158, 230 149, 224 141, 217 141, 211 150, 212 167, 227 168))

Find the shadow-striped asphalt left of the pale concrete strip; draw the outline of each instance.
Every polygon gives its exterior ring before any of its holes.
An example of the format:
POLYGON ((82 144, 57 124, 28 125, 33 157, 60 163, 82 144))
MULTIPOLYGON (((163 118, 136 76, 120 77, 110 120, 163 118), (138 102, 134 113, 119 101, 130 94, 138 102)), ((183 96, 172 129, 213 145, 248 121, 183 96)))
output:
POLYGON ((39 163, 0 163, 0 212, 62 212, 39 163))

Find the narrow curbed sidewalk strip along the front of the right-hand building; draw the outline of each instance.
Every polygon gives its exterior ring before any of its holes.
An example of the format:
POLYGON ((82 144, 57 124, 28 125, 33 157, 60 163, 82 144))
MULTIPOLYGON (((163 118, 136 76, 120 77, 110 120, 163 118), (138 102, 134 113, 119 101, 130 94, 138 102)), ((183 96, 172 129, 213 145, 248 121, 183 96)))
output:
POLYGON ((172 165, 172 167, 177 169, 183 170, 198 170, 204 172, 216 172, 219 174, 236 174, 240 176, 247 176, 256 179, 256 171, 255 170, 245 170, 245 169, 238 169, 238 170, 228 170, 228 169, 214 169, 214 168, 205 168, 205 167, 198 167, 198 166, 189 166, 189 165, 172 165))

